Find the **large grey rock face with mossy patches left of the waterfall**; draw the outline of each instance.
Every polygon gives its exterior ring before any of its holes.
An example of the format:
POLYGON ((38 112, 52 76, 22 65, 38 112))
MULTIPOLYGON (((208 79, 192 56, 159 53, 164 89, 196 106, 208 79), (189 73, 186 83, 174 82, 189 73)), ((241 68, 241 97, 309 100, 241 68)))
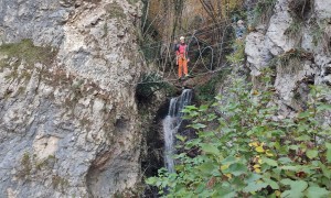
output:
POLYGON ((0 197, 132 196, 135 0, 0 1, 0 197))

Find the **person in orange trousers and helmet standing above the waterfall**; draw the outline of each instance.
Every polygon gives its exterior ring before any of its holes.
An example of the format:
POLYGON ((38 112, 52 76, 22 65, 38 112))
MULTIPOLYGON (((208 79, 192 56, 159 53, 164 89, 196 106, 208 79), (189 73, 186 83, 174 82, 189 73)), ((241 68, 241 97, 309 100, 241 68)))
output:
POLYGON ((188 56, 188 45, 185 44, 185 37, 180 37, 180 44, 175 45, 177 65, 178 65, 178 78, 182 79, 183 73, 184 77, 189 77, 188 74, 188 63, 190 58, 188 56))

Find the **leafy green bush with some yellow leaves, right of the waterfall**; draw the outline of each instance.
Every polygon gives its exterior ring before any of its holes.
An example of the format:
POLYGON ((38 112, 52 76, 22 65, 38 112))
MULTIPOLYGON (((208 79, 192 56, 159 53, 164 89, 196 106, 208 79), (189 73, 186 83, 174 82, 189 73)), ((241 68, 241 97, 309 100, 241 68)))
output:
POLYGON ((164 197, 330 197, 331 129, 320 120, 331 110, 321 102, 327 89, 311 87, 307 111, 281 118, 269 105, 270 77, 263 76, 264 91, 234 79, 226 105, 217 96, 211 107, 189 106, 185 118, 199 138, 179 140, 183 151, 200 152, 175 155, 177 173, 161 168, 146 183, 164 197))

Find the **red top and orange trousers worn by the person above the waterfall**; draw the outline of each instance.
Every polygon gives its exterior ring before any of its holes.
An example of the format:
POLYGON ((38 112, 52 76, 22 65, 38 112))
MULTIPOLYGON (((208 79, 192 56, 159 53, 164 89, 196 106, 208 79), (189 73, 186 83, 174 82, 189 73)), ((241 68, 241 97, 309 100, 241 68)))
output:
POLYGON ((183 73, 188 75, 188 45, 179 44, 175 51, 177 61, 178 61, 178 77, 181 78, 183 73))

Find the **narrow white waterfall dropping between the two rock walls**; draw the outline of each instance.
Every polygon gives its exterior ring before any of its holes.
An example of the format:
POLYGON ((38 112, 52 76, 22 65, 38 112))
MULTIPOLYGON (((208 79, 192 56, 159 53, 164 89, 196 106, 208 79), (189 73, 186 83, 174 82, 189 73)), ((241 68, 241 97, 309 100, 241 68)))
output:
POLYGON ((170 100, 169 112, 163 120, 164 133, 164 163, 169 173, 174 172, 174 136, 182 123, 182 109, 190 105, 192 99, 192 90, 184 89, 182 95, 170 100))

